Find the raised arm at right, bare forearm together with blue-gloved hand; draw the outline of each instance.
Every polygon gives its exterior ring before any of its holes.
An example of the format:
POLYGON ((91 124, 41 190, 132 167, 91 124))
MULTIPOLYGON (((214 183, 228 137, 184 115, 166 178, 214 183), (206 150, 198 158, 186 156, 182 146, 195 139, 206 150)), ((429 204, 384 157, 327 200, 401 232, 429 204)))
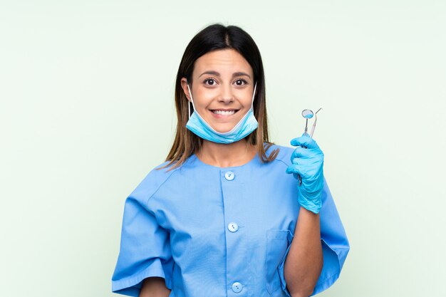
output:
POLYGON ((319 211, 323 194, 323 152, 311 137, 291 140, 297 146, 286 173, 299 179, 301 205, 294 238, 284 263, 284 278, 291 297, 310 296, 323 269, 319 211))

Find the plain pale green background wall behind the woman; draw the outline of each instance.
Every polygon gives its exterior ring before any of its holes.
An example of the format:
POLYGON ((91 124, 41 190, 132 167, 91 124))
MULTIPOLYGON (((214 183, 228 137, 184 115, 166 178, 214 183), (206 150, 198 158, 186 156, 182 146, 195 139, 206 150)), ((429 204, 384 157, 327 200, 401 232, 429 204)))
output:
POLYGON ((351 252, 319 296, 446 296, 445 1, 0 2, 1 296, 105 297, 125 198, 164 161, 192 36, 260 48, 271 138, 315 139, 351 252))

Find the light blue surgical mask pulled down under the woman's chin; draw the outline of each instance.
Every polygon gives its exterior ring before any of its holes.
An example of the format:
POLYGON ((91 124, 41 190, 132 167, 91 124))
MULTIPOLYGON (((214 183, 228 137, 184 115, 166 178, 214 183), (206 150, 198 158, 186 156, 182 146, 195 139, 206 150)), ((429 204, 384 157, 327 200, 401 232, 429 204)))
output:
POLYGON ((206 121, 197 113, 197 109, 194 105, 194 100, 192 99, 192 93, 190 93, 189 84, 187 84, 187 89, 189 90, 190 100, 192 101, 192 106, 194 107, 194 113, 190 115, 190 101, 189 101, 189 120, 187 121, 186 127, 195 133, 195 135, 202 137, 205 140, 209 140, 217 143, 232 143, 247 137, 252 131, 257 128, 257 120, 254 117, 254 95, 256 94, 257 83, 254 85, 254 93, 251 99, 251 108, 249 108, 246 115, 243 116, 239 123, 237 123, 232 130, 228 132, 217 132, 211 125, 206 123, 206 121))

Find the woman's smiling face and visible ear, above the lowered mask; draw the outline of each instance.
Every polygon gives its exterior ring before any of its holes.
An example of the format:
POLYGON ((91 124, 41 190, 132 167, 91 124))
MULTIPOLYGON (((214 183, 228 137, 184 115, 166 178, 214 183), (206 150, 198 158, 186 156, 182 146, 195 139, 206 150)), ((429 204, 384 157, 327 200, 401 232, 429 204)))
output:
MULTIPOLYGON (((252 68, 233 49, 211 51, 195 61, 190 91, 195 109, 217 132, 231 130, 251 108, 252 68)), ((182 89, 190 100, 187 80, 182 89)))

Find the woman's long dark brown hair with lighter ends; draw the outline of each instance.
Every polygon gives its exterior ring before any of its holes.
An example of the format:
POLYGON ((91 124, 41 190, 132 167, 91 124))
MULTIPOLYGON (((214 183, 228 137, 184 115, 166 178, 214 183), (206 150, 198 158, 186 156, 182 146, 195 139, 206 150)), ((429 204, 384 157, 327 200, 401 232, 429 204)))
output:
MULTIPOLYGON (((257 153, 262 162, 274 160, 279 153, 279 148, 273 150, 268 156, 266 150, 274 145, 269 142, 268 123, 266 120, 265 101, 265 77, 264 66, 261 61, 260 51, 249 34, 238 26, 223 26, 222 24, 212 24, 199 31, 192 38, 182 56, 180 67, 177 72, 175 82, 175 108, 177 110, 177 132, 169 155, 167 155, 167 165, 160 167, 170 167, 170 170, 180 167, 188 157, 199 152, 202 147, 202 138, 195 135, 186 128, 189 120, 188 100, 181 87, 181 79, 187 78, 187 82, 192 85, 192 73, 195 61, 205 53, 231 48, 240 53, 251 66, 254 73, 254 81, 257 82, 256 97, 254 97, 254 116, 259 123, 254 132, 247 136, 247 142, 256 146, 257 153)), ((190 107, 193 110, 193 107, 190 107)))

